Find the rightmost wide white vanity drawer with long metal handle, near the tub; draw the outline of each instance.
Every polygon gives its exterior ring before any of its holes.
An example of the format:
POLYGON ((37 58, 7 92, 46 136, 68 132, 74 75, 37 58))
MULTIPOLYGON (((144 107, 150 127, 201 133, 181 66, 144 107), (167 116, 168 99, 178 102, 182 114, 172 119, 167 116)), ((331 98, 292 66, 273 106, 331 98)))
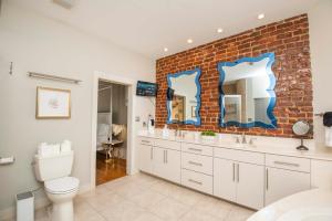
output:
POLYGON ((307 158, 266 155, 266 166, 302 172, 310 172, 310 159, 307 158))

